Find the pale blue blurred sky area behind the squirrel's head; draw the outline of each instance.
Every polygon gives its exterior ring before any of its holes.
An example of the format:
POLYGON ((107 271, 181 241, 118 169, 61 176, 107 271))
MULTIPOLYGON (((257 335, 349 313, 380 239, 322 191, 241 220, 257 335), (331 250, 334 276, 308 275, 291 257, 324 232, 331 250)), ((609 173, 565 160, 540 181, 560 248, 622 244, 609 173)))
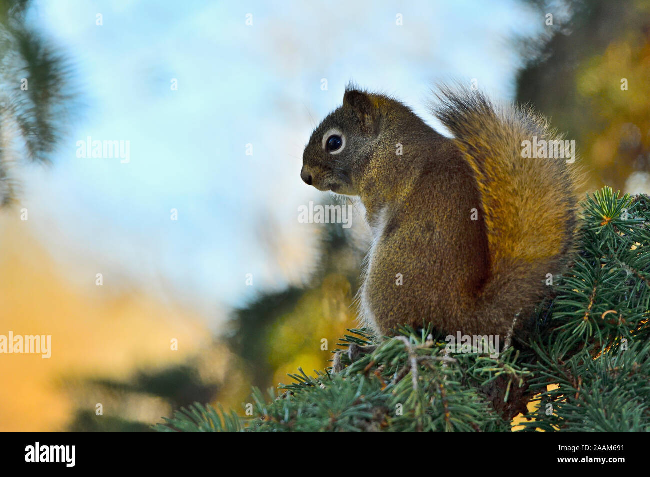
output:
POLYGON ((325 197, 300 180, 302 149, 348 81, 422 114, 444 79, 512 99, 512 38, 544 28, 515 1, 37 1, 30 19, 84 103, 55 165, 25 172, 31 222, 73 281, 101 270, 214 322, 308 272, 318 225, 298 224, 298 206, 325 197), (87 136, 129 140, 131 162, 78 159, 87 136))

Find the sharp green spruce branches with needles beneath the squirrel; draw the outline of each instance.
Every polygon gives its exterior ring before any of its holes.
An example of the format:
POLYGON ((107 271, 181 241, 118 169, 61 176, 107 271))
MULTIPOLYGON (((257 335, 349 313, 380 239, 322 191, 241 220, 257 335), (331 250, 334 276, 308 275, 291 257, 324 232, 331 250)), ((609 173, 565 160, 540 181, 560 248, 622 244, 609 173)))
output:
POLYGON ((195 404, 155 429, 510 432, 523 413, 515 430, 648 431, 649 201, 611 188, 588 196, 571 268, 531 318, 530 338, 498 357, 448 352, 426 327, 380 343, 350 330, 340 372, 300 370, 279 396, 254 389, 250 417, 195 404))

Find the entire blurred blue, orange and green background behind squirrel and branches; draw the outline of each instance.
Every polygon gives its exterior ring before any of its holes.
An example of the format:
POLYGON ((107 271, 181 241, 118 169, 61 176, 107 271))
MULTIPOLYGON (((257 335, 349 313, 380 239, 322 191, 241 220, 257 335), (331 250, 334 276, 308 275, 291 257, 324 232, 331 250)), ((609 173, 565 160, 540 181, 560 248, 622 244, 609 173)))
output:
POLYGON ((0 0, 0 335, 52 336, 0 354, 0 430, 243 414, 327 367, 367 230, 298 222, 333 200, 302 150, 350 80, 436 127, 450 79, 547 114, 585 192, 650 192, 648 0, 0 0))

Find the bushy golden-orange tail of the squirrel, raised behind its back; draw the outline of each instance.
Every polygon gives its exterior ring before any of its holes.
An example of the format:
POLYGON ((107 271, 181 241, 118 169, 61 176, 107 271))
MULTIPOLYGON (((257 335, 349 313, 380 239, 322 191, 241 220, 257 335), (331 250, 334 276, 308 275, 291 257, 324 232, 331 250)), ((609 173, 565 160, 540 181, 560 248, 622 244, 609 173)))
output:
MULTIPOLYGON (((525 141, 563 140, 529 109, 497 108, 463 88, 442 86, 437 96, 434 114, 471 164, 482 200, 491 273, 477 300, 478 325, 503 323, 520 310, 532 311, 549 290, 547 274, 557 279, 573 250, 575 164, 565 157, 525 157, 525 141)), ((551 144, 552 150, 558 143, 551 144)))

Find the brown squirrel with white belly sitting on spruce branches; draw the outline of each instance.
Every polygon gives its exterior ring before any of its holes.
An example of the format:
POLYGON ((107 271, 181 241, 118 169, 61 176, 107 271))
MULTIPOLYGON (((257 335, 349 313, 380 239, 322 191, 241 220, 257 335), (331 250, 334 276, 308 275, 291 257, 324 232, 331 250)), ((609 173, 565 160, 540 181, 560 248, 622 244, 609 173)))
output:
POLYGON ((305 146, 300 175, 365 206, 372 244, 357 300, 376 335, 432 324, 509 342, 574 251, 577 173, 564 154, 525 157, 525 141, 563 139, 532 110, 462 86, 436 96, 432 113, 452 138, 396 99, 348 85, 305 146))

